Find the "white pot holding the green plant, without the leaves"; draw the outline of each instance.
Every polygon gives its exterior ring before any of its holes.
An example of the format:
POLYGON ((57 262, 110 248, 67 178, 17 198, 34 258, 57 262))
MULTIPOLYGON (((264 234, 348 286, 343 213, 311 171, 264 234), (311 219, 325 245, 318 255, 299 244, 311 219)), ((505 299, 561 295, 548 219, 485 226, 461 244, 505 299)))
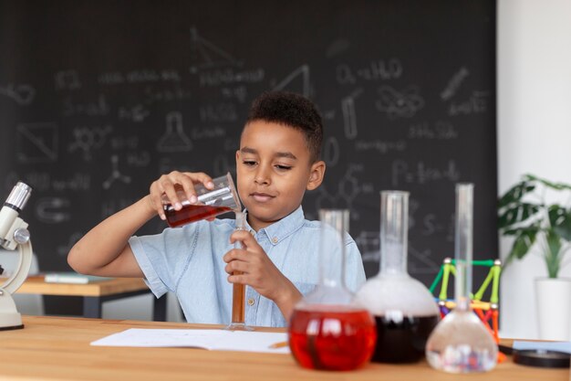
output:
POLYGON ((535 279, 535 306, 541 340, 571 340, 571 279, 535 279))

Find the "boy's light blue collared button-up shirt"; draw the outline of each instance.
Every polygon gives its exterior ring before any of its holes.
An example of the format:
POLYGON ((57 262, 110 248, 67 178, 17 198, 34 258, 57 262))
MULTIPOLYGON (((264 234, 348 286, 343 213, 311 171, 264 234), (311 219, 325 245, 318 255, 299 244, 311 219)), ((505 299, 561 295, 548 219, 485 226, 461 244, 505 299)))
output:
MULTIPOLYGON (((247 213, 247 212, 246 212, 247 213)), ((232 312, 232 283, 227 280, 223 256, 233 249, 230 235, 234 219, 200 221, 182 228, 166 228, 161 234, 131 237, 130 248, 155 296, 173 291, 189 323, 228 324, 232 312)), ((319 221, 308 221, 301 206, 292 214, 254 233, 258 244, 287 279, 306 295, 319 283, 319 221)), ((346 284, 357 291, 365 282, 365 270, 355 241, 346 235, 346 284)), ((340 263, 326 260, 336 270, 340 263)), ((245 323, 285 326, 275 302, 246 287, 245 323)))

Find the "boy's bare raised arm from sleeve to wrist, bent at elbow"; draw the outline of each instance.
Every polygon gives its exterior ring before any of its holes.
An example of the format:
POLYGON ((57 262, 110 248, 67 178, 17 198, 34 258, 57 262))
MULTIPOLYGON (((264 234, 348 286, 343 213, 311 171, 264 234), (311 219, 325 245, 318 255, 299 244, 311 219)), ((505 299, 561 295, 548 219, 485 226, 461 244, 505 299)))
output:
POLYGON ((142 270, 128 241, 151 217, 157 215, 149 197, 141 198, 89 230, 69 251, 69 266, 83 274, 142 277, 142 270))

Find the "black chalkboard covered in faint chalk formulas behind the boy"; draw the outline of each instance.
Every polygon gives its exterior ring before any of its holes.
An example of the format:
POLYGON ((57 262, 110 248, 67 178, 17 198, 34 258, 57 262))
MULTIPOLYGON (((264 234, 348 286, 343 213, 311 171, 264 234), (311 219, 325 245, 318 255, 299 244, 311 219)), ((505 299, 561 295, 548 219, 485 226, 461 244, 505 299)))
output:
POLYGON ((265 90, 323 114, 306 217, 348 207, 368 276, 383 189, 410 191, 416 278, 453 256, 457 182, 475 184, 475 257, 496 258, 494 1, 3 1, 0 178, 6 196, 34 187, 40 268, 67 269, 75 241, 163 173, 235 174, 265 90))

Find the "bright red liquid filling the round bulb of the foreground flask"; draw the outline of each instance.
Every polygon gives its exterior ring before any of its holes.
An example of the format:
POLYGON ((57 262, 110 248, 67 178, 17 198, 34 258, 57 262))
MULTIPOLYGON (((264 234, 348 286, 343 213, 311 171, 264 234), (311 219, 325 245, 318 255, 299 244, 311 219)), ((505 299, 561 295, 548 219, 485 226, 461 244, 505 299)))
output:
POLYGON ((377 331, 368 311, 328 305, 310 308, 295 310, 288 328, 289 347, 299 365, 352 370, 369 362, 377 331))

